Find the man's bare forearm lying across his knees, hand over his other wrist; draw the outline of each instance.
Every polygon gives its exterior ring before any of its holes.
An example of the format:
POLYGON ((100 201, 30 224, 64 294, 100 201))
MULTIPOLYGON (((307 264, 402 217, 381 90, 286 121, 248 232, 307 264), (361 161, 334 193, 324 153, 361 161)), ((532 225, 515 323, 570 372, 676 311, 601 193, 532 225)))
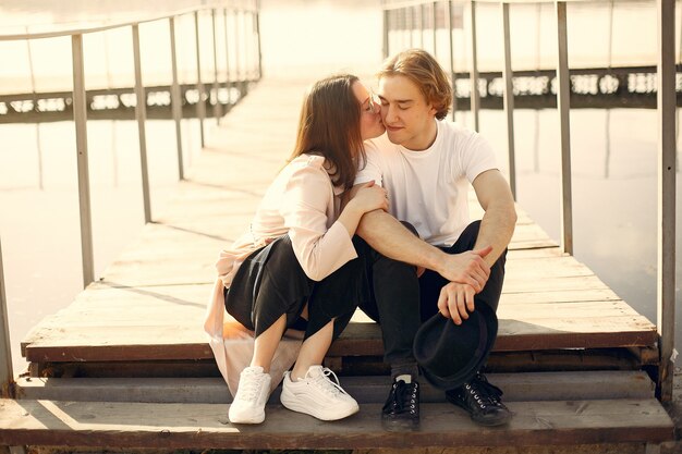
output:
POLYGON ((365 213, 356 234, 386 257, 428 268, 449 281, 466 283, 476 292, 480 292, 490 274, 490 267, 483 259, 489 248, 446 254, 419 240, 382 210, 365 213))

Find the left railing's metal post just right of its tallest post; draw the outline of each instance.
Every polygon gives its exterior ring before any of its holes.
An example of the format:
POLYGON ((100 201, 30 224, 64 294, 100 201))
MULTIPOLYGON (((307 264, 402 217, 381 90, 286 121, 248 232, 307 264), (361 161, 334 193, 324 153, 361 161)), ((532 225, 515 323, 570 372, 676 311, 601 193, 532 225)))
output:
POLYGON ((145 206, 145 223, 151 222, 151 201, 149 200, 149 168, 147 165, 147 96, 142 84, 142 59, 139 57, 139 25, 133 25, 133 59, 135 61, 135 119, 139 138, 139 167, 142 170, 142 196, 145 206))

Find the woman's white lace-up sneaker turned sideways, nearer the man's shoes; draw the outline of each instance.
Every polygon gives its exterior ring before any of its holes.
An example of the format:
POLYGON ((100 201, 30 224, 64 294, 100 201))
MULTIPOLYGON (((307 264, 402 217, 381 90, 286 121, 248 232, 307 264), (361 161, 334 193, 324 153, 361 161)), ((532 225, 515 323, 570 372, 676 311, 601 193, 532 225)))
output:
POLYGON ((360 410, 357 402, 339 384, 336 373, 321 366, 310 366, 299 381, 292 381, 290 372, 284 372, 280 401, 289 409, 324 421, 345 418, 360 410))

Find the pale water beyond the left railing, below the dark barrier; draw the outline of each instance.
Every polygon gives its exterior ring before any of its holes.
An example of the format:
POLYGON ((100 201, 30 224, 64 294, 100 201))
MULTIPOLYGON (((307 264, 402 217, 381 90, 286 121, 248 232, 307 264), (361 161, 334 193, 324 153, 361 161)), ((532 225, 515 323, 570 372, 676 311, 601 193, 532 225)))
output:
MULTIPOLYGON (((178 181, 174 123, 149 121, 146 133, 154 217, 163 210, 178 181)), ((199 152, 198 121, 184 120, 182 134, 184 162, 191 167, 199 152)), ((75 138, 70 122, 4 124, 0 137, 0 235, 19 373, 25 368, 21 340, 83 289, 75 138)), ((88 146, 99 277, 144 225, 137 124, 89 122, 88 146)))

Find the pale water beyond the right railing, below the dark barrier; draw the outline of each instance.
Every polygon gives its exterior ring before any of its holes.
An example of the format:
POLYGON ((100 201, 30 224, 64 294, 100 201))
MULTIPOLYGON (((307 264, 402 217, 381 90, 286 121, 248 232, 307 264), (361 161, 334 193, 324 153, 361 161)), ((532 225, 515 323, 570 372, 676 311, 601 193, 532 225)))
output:
MULTIPOLYGON (((502 112, 485 111, 482 133, 507 167, 502 112)), ((558 114, 517 111, 519 204, 560 237, 558 114)), ((631 306, 656 321, 657 116, 653 110, 571 112, 574 254, 631 306)), ((682 182, 678 173, 678 199, 682 182)), ((678 207, 680 204, 678 204, 678 207)), ((682 241, 678 210, 677 243, 682 241)), ((677 259, 677 303, 682 300, 677 259)), ((678 311, 677 319, 682 320, 678 311)), ((682 323, 677 339, 682 340, 682 323)))

